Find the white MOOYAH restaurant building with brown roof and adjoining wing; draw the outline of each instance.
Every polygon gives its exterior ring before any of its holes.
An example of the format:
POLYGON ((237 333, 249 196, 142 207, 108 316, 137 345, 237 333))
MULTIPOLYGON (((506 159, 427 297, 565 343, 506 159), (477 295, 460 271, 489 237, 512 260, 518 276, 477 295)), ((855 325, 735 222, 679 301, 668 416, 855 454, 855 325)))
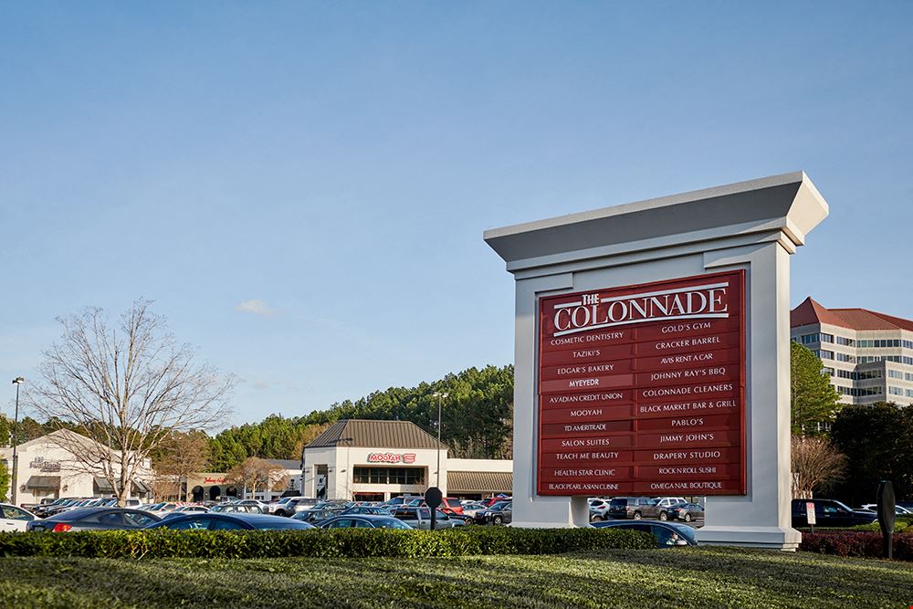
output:
POLYGON ((338 421, 305 446, 301 465, 301 494, 319 499, 383 501, 429 487, 481 499, 513 487, 509 459, 450 458, 446 445, 409 421, 338 421))

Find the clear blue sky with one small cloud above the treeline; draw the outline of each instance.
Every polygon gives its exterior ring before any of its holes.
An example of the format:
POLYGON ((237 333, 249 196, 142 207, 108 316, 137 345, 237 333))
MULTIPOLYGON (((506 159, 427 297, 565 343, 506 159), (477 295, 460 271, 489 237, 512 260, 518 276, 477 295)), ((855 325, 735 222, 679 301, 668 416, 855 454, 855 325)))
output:
POLYGON ((513 286, 484 229, 796 170, 831 216, 793 304, 913 318, 911 19, 5 3, 0 372, 34 377, 56 317, 140 297, 243 380, 232 423, 501 365, 513 286))

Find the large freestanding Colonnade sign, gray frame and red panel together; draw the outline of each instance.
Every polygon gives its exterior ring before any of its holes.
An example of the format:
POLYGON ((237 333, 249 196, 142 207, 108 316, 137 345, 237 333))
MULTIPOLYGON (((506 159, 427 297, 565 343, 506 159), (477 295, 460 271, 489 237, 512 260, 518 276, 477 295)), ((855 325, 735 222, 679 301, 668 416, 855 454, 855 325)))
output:
POLYGON ((794 550, 790 257, 804 173, 486 231, 516 280, 513 523, 706 497, 702 544, 794 550))

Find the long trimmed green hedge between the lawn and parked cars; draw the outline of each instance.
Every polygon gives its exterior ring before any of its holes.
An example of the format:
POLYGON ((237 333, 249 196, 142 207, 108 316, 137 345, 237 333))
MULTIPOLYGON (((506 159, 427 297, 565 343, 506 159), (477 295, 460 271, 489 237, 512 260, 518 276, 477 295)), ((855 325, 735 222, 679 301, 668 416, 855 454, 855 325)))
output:
POLYGON ((0 533, 0 556, 103 558, 280 558, 558 554, 568 551, 656 548, 653 535, 634 530, 100 530, 0 533))

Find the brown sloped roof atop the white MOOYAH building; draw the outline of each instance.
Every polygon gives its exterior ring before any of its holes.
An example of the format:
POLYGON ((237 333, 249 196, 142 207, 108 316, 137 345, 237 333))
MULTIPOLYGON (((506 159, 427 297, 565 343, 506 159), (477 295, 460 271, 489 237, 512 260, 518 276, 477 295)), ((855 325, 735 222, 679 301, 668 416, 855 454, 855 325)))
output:
MULTIPOLYGON (((342 419, 311 440, 310 444, 305 447, 323 446, 437 448, 438 444, 435 436, 427 433, 412 421, 342 419)), ((446 448, 446 445, 441 444, 440 447, 446 448)))

